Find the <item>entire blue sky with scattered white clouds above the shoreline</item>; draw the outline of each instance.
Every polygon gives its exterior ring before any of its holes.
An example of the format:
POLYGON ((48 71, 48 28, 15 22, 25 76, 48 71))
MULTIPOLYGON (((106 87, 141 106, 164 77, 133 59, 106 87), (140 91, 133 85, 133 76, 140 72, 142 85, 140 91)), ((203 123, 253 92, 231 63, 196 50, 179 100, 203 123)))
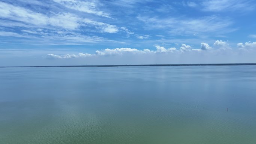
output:
POLYGON ((0 66, 256 62, 256 0, 0 0, 0 66))

